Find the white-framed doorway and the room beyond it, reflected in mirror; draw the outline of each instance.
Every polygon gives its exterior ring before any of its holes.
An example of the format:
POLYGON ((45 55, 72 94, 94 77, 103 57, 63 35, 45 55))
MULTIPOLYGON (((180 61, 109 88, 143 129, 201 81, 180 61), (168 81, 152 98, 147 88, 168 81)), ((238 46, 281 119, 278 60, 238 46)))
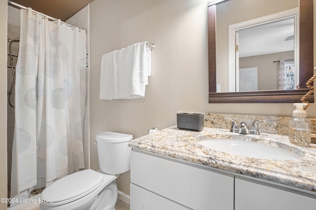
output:
POLYGON ((229 25, 229 91, 296 87, 299 83, 299 74, 295 72, 299 69, 297 16, 298 8, 294 8, 229 25), (294 60, 288 72, 284 60, 294 60))

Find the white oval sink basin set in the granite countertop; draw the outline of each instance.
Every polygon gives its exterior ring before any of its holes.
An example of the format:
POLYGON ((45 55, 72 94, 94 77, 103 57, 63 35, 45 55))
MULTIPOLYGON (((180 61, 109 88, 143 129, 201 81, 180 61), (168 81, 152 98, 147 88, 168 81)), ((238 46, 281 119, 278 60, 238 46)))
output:
POLYGON ((233 139, 205 139, 198 144, 212 150, 222 151, 234 155, 270 160, 290 160, 302 156, 283 148, 233 139))

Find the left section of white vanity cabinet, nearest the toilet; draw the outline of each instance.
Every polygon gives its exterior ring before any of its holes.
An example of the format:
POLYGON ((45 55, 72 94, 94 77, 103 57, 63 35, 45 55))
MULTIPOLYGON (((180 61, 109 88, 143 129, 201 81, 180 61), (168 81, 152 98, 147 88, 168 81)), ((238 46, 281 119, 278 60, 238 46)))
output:
POLYGON ((131 210, 234 210, 234 175, 131 151, 131 210))

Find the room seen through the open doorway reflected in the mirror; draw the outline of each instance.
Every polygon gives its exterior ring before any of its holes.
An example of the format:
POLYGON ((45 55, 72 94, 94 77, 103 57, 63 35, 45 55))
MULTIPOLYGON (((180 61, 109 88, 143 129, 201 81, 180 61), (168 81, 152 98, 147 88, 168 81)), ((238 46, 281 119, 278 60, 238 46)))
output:
POLYGON ((294 18, 236 33, 239 38, 236 91, 293 90, 296 87, 294 18))

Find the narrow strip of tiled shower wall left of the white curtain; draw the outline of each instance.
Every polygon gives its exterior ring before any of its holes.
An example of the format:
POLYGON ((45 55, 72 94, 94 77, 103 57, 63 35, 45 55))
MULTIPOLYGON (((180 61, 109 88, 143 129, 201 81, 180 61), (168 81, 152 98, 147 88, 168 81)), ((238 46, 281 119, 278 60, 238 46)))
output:
MULTIPOLYGON (((8 6, 8 21, 7 21, 7 36, 10 39, 14 39, 20 36, 20 10, 12 6, 8 6)), ((9 43, 7 43, 8 59, 7 59, 7 90, 10 91, 11 84, 13 82, 13 75, 10 66, 10 57, 9 57, 9 43)), ((15 67, 19 43, 12 43, 12 63, 15 67)), ((14 88, 11 95, 11 104, 14 106, 14 88)), ((13 143, 13 133, 14 133, 14 108, 12 108, 7 101, 7 176, 8 176, 8 185, 11 183, 11 162, 12 162, 12 143, 13 143)))

